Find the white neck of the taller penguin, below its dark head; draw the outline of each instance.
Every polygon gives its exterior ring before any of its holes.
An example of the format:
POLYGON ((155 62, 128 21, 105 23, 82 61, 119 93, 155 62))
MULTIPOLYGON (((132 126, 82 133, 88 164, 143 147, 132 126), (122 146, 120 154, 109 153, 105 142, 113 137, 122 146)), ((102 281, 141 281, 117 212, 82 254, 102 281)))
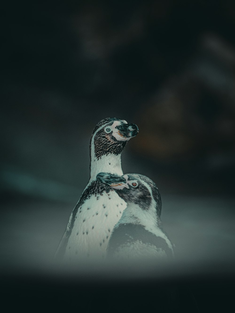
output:
POLYGON ((96 180, 96 176, 100 172, 108 172, 122 176, 121 153, 117 155, 109 153, 108 155, 102 155, 98 159, 96 156, 91 156, 89 182, 96 180))

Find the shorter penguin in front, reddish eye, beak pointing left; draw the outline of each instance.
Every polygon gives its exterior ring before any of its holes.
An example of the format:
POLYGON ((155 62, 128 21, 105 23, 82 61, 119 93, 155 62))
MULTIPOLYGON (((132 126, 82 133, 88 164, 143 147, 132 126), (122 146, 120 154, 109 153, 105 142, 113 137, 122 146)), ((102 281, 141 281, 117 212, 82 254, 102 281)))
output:
POLYGON ((155 183, 139 174, 99 173, 97 180, 114 189, 127 203, 109 239, 107 257, 172 259, 173 247, 162 228, 161 197, 155 183))

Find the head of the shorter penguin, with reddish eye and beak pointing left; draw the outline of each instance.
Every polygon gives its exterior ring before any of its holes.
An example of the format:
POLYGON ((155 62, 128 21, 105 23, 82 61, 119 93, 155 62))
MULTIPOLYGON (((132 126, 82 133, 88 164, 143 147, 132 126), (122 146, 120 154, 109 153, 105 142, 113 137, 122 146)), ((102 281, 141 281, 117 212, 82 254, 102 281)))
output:
POLYGON ((138 205, 144 211, 153 209, 160 217, 160 193, 149 177, 140 174, 117 176, 102 172, 97 175, 97 180, 115 190, 127 205, 138 205))

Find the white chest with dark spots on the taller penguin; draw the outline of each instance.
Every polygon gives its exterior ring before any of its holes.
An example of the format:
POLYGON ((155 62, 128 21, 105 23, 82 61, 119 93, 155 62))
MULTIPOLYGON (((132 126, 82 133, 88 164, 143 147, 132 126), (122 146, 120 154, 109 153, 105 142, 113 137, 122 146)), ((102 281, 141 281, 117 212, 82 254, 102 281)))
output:
POLYGON ((126 203, 110 190, 91 195, 77 210, 64 258, 105 258, 112 229, 120 219, 126 203))

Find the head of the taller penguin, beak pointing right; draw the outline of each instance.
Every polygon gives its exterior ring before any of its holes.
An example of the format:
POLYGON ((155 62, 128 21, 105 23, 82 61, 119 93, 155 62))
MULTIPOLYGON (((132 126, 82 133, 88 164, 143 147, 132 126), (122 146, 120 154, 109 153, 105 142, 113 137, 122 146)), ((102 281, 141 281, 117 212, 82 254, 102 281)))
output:
POLYGON ((90 151, 93 147, 97 159, 109 153, 120 154, 127 141, 136 136, 138 131, 135 124, 128 124, 125 120, 116 117, 104 119, 92 132, 90 151))

